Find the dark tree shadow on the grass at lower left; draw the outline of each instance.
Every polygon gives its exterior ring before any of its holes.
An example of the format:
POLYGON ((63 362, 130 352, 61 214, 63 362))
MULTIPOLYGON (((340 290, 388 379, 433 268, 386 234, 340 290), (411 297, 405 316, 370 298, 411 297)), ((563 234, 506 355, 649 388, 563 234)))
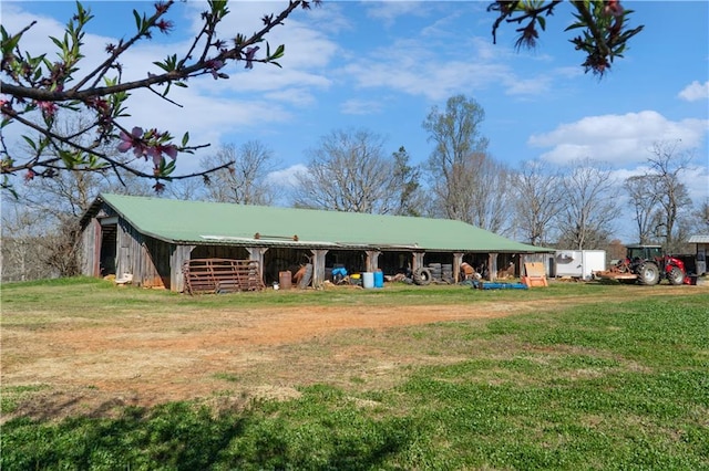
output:
POLYGON ((341 422, 347 418, 325 412, 294 425, 269 410, 215 416, 171 402, 126 408, 116 419, 19 418, 3 426, 0 468, 366 470, 381 468, 408 443, 405 427, 391 421, 348 426, 341 422))

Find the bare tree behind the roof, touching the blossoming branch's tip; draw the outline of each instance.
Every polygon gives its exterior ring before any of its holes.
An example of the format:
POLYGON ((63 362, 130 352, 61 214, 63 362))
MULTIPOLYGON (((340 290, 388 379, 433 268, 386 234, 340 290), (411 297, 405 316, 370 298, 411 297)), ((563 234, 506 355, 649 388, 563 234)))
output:
POLYGON ((249 140, 238 148, 234 144, 223 146, 214 156, 203 159, 204 168, 216 168, 234 163, 213 172, 205 187, 212 201, 238 205, 270 205, 277 197, 276 188, 267 181, 275 170, 273 151, 258 140, 249 140))

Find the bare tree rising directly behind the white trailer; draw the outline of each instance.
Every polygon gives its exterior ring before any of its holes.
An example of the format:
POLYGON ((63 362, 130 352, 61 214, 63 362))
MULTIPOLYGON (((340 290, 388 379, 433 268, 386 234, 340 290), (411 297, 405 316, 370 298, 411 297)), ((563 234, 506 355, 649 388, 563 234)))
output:
POLYGON ((610 170, 599 163, 582 159, 572 163, 562 180, 564 210, 559 214, 559 244, 569 249, 602 249, 620 213, 618 189, 610 170))

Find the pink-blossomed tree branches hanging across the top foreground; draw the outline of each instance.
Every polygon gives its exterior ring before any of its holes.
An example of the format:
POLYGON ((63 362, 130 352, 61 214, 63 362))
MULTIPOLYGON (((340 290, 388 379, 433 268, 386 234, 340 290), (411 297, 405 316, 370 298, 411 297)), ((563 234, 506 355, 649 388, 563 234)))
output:
MULTIPOLYGON (((493 40, 503 23, 520 25, 516 29, 517 48, 534 46, 538 31, 546 28, 546 18, 553 14, 561 0, 496 1, 489 7, 499 15, 493 24, 493 40)), ((230 32, 228 39, 219 36, 217 27, 229 13, 226 0, 209 0, 202 13, 201 29, 186 51, 174 53, 153 62, 142 80, 124 81, 121 59, 138 41, 150 40, 153 34, 168 33, 174 23, 168 13, 174 0, 154 4, 151 14, 133 10, 135 31, 127 40, 105 46, 105 59, 97 66, 85 70, 82 45, 84 29, 93 19, 91 11, 76 3, 76 12, 69 20, 62 38, 50 38, 56 46, 58 60, 52 62, 48 51, 30 52, 22 49, 22 38, 35 22, 16 32, 2 25, 2 75, 0 81, 2 135, 0 136, 0 181, 2 189, 13 191, 10 176, 22 175, 25 179, 51 178, 61 171, 120 171, 155 180, 154 188, 164 188, 163 181, 203 177, 229 168, 233 163, 188 175, 174 175, 179 154, 191 154, 207 145, 191 145, 189 135, 175 138, 167 129, 150 127, 146 123, 133 123, 127 113, 132 91, 148 90, 157 100, 175 105, 168 94, 173 86, 187 87, 188 78, 203 75, 215 80, 228 80, 222 70, 230 62, 242 62, 245 69, 255 63, 278 64, 285 46, 271 49, 266 41, 274 28, 297 9, 310 9, 320 0, 289 0, 280 12, 263 17, 260 30, 245 35, 230 32), (70 134, 58 126, 60 114, 89 114, 89 124, 70 134), (6 142, 4 130, 20 126, 21 138, 27 146, 6 142), (91 136, 86 140, 85 136, 91 136), (106 153, 114 146, 115 158, 106 153), (148 170, 143 163, 148 163, 148 170)), ((583 34, 572 40, 577 50, 587 54, 583 66, 586 71, 605 73, 613 59, 621 56, 626 41, 643 27, 627 30, 629 11, 620 7, 619 0, 583 0, 571 2, 576 22, 569 29, 582 29, 583 34)), ((220 32, 225 34, 225 32, 220 32)), ((86 122, 82 119, 82 122, 86 122)))

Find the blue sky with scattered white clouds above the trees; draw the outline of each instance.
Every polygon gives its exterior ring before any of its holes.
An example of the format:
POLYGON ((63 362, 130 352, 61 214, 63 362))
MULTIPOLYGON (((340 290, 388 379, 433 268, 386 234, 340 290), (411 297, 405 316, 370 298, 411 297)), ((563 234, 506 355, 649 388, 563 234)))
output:
MULTIPOLYGON (((134 29, 132 9, 152 12, 152 2, 85 2, 95 14, 89 28, 89 63, 103 48, 134 29)), ((230 6, 225 38, 250 32, 265 13, 286 2, 242 1, 230 6)), ((288 175, 307 161, 308 149, 332 129, 364 128, 386 137, 388 151, 404 146, 413 163, 432 146, 421 123, 448 97, 465 94, 485 109, 482 134, 491 155, 512 168, 542 158, 568 164, 589 157, 608 163, 618 178, 641 171, 654 142, 681 139, 678 151, 692 151, 685 176, 692 199, 709 198, 709 2, 624 1, 635 10, 631 25, 645 30, 629 43, 603 80, 584 74, 584 56, 564 32, 571 6, 548 19, 534 51, 514 50, 514 28, 503 27, 492 43, 489 2, 323 1, 298 11, 269 36, 286 44, 282 69, 257 65, 225 70, 228 81, 191 81, 171 98, 136 93, 129 127, 189 130, 193 144, 258 139, 274 150, 288 175)), ((167 36, 142 42, 125 57, 124 74, 144 77, 153 61, 184 51, 205 4, 178 3, 167 36)), ((74 3, 2 2, 2 24, 17 31, 40 23, 24 49, 51 50, 48 34, 62 34, 74 3)), ((181 156, 178 169, 197 168, 181 156)))

